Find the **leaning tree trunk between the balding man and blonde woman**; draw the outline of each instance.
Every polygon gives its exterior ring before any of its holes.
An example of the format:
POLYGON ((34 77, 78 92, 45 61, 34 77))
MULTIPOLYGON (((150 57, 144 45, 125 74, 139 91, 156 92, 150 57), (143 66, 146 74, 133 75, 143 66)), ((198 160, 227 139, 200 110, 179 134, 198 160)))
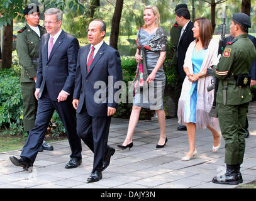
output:
POLYGON ((118 50, 118 35, 120 30, 120 19, 123 9, 123 0, 116 0, 116 7, 114 8, 114 15, 112 18, 111 34, 109 45, 118 50))

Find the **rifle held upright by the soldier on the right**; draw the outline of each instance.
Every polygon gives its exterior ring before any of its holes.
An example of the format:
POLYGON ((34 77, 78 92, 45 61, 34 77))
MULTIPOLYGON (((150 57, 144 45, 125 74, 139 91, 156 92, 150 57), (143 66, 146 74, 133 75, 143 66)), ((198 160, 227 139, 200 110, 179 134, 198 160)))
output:
MULTIPOLYGON (((223 23, 221 23, 221 36, 220 36, 218 55, 220 55, 220 54, 222 55, 222 52, 225 48, 225 44, 224 44, 225 33, 226 33, 226 8, 224 9, 224 12, 223 12, 223 23)), ((206 74, 213 75, 213 72, 212 72, 212 70, 207 70, 206 74)), ((207 87, 208 92, 213 90, 213 89, 215 89, 215 90, 214 90, 213 106, 211 107, 211 111, 209 112, 209 116, 218 117, 217 106, 216 106, 216 96, 217 96, 219 80, 216 77, 213 77, 213 80, 211 80, 211 84, 212 84, 211 86, 207 87)))

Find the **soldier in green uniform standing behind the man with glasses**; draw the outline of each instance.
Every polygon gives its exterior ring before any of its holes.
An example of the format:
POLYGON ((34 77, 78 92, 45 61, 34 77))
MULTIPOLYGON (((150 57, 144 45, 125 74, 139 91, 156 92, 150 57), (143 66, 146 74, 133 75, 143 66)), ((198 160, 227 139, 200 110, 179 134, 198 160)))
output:
MULTIPOLYGON (((40 13, 36 4, 29 4, 23 11, 26 26, 18 31, 17 53, 21 70, 21 94, 23 97, 23 126, 29 131, 35 126, 37 100, 35 98, 36 70, 40 52, 41 36, 46 33, 45 28, 39 25, 40 13)), ((52 145, 43 141, 40 151, 53 150, 52 145)))

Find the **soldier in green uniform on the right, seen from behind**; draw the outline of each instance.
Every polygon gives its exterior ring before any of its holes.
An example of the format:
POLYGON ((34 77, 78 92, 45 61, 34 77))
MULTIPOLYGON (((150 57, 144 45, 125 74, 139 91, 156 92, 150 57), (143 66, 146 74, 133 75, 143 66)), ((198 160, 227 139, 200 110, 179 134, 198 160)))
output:
POLYGON ((250 18, 245 13, 233 14, 230 34, 235 37, 227 43, 213 75, 219 79, 216 102, 223 138, 225 139, 226 173, 214 177, 213 183, 236 185, 242 183, 240 165, 245 152, 245 119, 250 93, 250 67, 256 50, 248 38, 250 18))

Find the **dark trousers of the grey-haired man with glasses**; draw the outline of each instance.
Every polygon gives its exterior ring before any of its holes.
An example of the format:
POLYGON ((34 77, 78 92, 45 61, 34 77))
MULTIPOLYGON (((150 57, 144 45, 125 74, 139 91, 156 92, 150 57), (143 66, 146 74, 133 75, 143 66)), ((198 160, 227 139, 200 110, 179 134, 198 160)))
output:
POLYGON ((72 106, 72 98, 68 97, 67 100, 60 102, 53 101, 48 96, 47 90, 44 90, 42 97, 38 99, 35 127, 31 129, 21 151, 21 156, 29 158, 32 163, 34 163, 38 150, 43 143, 45 132, 55 110, 64 124, 69 139, 70 157, 82 158, 82 145, 76 131, 76 113, 72 106))

